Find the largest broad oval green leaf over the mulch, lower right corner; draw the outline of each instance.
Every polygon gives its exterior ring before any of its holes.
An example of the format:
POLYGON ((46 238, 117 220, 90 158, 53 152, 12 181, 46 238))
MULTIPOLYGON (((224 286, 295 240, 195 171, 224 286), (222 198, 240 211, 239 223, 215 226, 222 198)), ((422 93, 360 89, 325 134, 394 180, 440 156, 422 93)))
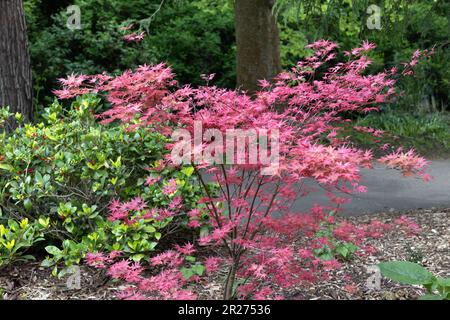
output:
POLYGON ((383 262, 379 265, 381 273, 394 281, 405 284, 429 284, 435 277, 424 267, 408 261, 383 262))

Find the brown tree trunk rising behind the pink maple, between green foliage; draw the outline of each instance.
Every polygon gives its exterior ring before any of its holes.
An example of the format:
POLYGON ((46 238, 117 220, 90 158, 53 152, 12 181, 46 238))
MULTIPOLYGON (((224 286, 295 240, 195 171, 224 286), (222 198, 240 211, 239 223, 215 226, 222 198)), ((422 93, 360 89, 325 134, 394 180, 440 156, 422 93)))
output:
POLYGON ((274 0, 236 0, 237 85, 253 93, 258 80, 272 80, 281 71, 274 0))

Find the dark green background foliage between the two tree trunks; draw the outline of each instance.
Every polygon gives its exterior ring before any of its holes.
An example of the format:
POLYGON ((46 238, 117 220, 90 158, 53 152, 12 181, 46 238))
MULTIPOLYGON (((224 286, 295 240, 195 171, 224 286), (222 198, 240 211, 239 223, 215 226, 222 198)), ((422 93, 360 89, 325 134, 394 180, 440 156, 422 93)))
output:
POLYGON ((216 73, 220 85, 233 87, 234 24, 229 6, 203 0, 166 1, 154 15, 159 4, 77 0, 48 5, 44 11, 40 0, 29 0, 27 22, 37 102, 51 103, 50 90, 56 87, 56 79, 72 72, 118 73, 160 61, 172 65, 183 83, 199 84, 200 74, 216 73), (81 30, 66 27, 66 8, 72 4, 81 8, 81 30), (120 27, 130 23, 147 29, 139 45, 122 39, 120 27))

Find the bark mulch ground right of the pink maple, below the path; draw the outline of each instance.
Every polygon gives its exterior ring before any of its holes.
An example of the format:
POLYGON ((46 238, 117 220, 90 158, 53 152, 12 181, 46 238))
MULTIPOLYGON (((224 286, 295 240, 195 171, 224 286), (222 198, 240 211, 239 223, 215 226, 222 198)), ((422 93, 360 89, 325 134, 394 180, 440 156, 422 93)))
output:
POLYGON ((418 262, 435 275, 450 277, 450 209, 414 210, 404 213, 381 213, 350 217, 353 222, 367 223, 376 218, 391 222, 401 215, 416 221, 422 229, 415 237, 399 233, 387 233, 381 239, 369 244, 378 252, 371 256, 356 257, 341 269, 327 283, 320 283, 308 292, 301 292, 302 299, 364 299, 364 300, 404 300, 417 299, 423 290, 420 286, 407 286, 382 279, 380 287, 371 289, 367 282, 371 275, 367 267, 379 262, 407 260, 418 262), (346 280, 344 278, 347 277, 346 280), (351 290, 346 288, 351 286, 351 290))

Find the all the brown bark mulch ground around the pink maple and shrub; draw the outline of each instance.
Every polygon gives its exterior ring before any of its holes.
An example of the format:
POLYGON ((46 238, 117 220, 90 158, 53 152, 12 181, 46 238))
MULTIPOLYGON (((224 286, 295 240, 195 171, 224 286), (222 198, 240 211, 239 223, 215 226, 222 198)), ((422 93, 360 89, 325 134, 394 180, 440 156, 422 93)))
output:
MULTIPOLYGON (((418 261, 434 274, 450 277, 450 209, 414 210, 401 214, 420 225, 422 233, 419 236, 389 233, 381 239, 371 240, 369 244, 378 249, 377 253, 356 257, 327 282, 291 290, 286 298, 393 300, 416 299, 422 293, 420 287, 404 286, 386 279, 382 279, 379 288, 368 286, 371 274, 367 267, 381 261, 418 261)), ((348 219, 362 223, 374 218, 390 222, 401 214, 379 213, 348 219)), ((80 268, 80 289, 68 289, 68 279, 52 277, 47 269, 39 267, 39 263, 19 264, 0 272, 0 299, 114 299, 118 289, 118 284, 109 281, 102 271, 86 267, 80 268)), ((221 285, 211 280, 203 285, 201 298, 220 298, 221 285)))

